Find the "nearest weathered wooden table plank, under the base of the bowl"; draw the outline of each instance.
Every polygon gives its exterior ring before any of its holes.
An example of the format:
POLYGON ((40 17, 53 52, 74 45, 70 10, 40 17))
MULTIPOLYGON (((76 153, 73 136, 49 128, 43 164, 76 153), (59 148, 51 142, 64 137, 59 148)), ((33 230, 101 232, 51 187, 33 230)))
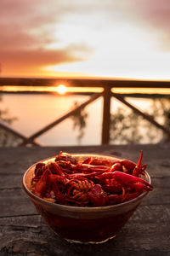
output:
POLYGON ((168 255, 169 222, 169 205, 139 207, 115 239, 100 245, 80 245, 54 235, 38 215, 0 218, 0 250, 17 255, 168 255))

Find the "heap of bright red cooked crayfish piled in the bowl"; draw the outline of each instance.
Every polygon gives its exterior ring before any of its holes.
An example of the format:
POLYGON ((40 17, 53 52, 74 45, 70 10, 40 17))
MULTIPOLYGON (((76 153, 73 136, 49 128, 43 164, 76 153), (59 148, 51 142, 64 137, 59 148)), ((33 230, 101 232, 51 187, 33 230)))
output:
POLYGON ((31 191, 45 200, 81 207, 105 207, 132 200, 152 185, 142 175, 143 151, 139 160, 108 160, 88 157, 82 162, 59 152, 54 161, 38 163, 31 191))

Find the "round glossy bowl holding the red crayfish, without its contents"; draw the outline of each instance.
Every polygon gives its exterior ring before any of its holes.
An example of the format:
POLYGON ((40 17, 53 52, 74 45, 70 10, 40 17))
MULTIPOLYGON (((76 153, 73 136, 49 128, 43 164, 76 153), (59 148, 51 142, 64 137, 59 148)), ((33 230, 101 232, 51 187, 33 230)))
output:
MULTIPOLYGON (((72 154, 77 160, 87 159, 88 156, 100 159, 117 160, 115 157, 101 154, 72 154)), ((55 157, 40 160, 47 163, 54 161, 55 157)), ((120 159, 119 159, 120 160, 120 159)), ((39 161, 39 162, 40 162, 39 161)), ((116 236, 122 226, 133 215, 148 192, 137 198, 117 205, 107 207, 71 207, 45 201, 31 193, 31 179, 34 177, 35 166, 31 166, 24 174, 22 185, 26 194, 54 232, 67 241, 82 243, 100 243, 116 236)), ((151 183, 148 172, 144 180, 151 183)))

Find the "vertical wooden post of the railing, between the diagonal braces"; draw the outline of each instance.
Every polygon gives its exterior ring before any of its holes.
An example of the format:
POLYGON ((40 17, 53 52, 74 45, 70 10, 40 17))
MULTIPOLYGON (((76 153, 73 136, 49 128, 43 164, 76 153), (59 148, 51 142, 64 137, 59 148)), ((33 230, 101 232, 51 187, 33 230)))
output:
POLYGON ((110 143, 110 123, 111 123, 111 86, 105 84, 103 94, 103 125, 102 144, 110 143))

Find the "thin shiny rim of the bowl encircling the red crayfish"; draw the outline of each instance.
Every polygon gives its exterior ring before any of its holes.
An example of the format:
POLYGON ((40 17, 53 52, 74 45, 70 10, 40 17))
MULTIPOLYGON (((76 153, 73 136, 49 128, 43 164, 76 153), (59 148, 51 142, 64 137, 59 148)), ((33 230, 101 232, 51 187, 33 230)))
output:
MULTIPOLYGON (((70 153, 69 153, 70 154, 70 153)), ((71 153, 71 155, 87 155, 87 156, 92 156, 92 155, 95 155, 95 156, 100 156, 100 157, 109 157, 109 158, 112 158, 112 159, 118 159, 118 160, 122 160, 122 158, 119 158, 115 155, 110 155, 110 154, 98 154, 98 153, 94 153, 94 154, 91 154, 91 153, 71 153)), ((30 170, 37 165, 37 163, 39 162, 43 162, 43 161, 48 161, 48 160, 51 160, 51 159, 54 159, 56 157, 56 155, 54 156, 51 156, 51 157, 48 157, 48 158, 45 158, 45 159, 42 159, 42 160, 38 160, 36 163, 34 163, 33 165, 31 165, 27 170, 26 172, 24 173, 23 177, 22 177, 22 187, 23 189, 26 191, 26 194, 29 195, 34 201, 39 201, 40 203, 42 204, 45 204, 46 206, 50 206, 50 207, 55 207, 55 208, 58 208, 60 210, 63 210, 63 211, 68 211, 70 210, 70 212, 72 211, 76 211, 76 212, 96 212, 96 210, 98 210, 99 212, 108 212, 110 209, 113 209, 113 208, 119 208, 119 207, 124 207, 124 206, 127 206, 129 204, 132 204, 132 203, 135 203, 136 201, 139 201, 141 200, 145 195, 147 195, 149 193, 149 191, 144 191, 144 193, 142 193, 141 195, 139 195, 138 197, 130 200, 130 201, 125 201, 125 202, 122 202, 122 203, 119 203, 119 204, 116 204, 116 205, 111 205, 111 206, 105 206, 105 207, 73 207, 73 206, 65 206, 65 205, 62 205, 62 204, 58 204, 58 203, 54 203, 54 202, 50 202, 50 201, 46 201, 40 197, 38 197, 37 195, 33 194, 30 189, 28 189, 26 187, 26 175, 28 172, 30 172, 30 170)), ((148 180, 148 183, 151 184, 151 178, 150 178, 150 175, 148 172, 144 171, 144 176, 147 178, 148 180)))

